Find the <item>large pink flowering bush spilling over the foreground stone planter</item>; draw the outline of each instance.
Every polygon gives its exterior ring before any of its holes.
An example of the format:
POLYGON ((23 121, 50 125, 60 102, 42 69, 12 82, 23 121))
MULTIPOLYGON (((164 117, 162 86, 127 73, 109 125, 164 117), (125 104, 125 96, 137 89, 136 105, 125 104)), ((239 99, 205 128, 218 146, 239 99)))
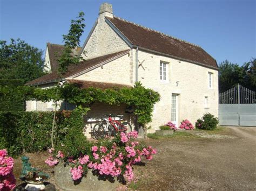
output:
POLYGON ((81 179, 88 169, 92 169, 98 175, 124 178, 130 182, 133 179, 132 165, 140 162, 142 157, 147 160, 153 158, 157 151, 151 146, 135 141, 138 137, 137 131, 120 133, 114 139, 98 140, 96 143, 87 142, 84 147, 70 155, 70 151, 64 147, 63 151, 56 150, 53 157, 45 162, 52 166, 55 162, 63 160, 71 166, 70 176, 74 181, 81 179))

